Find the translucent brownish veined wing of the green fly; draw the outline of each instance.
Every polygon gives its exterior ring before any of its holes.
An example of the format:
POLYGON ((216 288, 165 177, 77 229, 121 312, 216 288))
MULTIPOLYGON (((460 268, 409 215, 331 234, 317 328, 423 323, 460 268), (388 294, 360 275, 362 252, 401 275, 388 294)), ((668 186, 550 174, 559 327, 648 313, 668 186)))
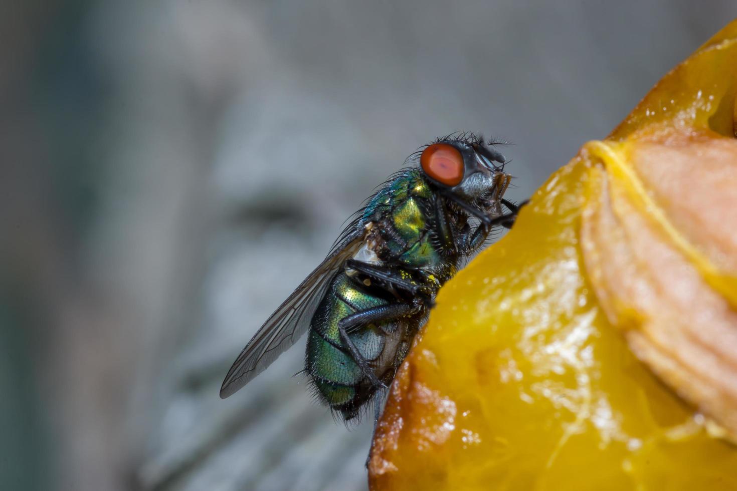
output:
POLYGON ((220 387, 225 399, 248 384, 307 331, 330 280, 363 243, 363 227, 348 227, 325 260, 284 300, 245 345, 220 387))

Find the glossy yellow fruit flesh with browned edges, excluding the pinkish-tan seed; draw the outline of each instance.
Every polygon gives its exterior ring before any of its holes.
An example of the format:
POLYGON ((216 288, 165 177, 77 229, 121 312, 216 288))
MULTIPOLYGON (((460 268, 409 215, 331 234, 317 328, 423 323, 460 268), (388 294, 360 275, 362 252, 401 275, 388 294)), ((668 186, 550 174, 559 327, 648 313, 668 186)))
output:
MULTIPOLYGON (((628 155, 638 142, 733 137, 736 93, 733 22, 604 144, 628 155), (666 110, 650 116, 663 100, 666 110)), ((391 386, 371 450, 372 490, 737 489, 737 447, 694 410, 698 401, 682 400, 652 361, 635 356, 590 280, 584 210, 612 173, 595 146, 553 174, 514 229, 441 289, 391 386)), ((713 262, 730 277, 729 261, 713 262)), ((635 308, 617 311, 637 324, 635 308)))

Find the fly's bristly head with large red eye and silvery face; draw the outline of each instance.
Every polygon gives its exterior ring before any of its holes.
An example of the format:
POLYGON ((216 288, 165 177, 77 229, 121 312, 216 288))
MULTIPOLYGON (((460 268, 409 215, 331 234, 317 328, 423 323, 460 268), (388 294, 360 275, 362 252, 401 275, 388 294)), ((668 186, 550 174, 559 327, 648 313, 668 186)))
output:
POLYGON ((472 215, 500 215, 511 175, 506 158, 475 135, 440 138, 420 155, 420 170, 441 195, 472 215))

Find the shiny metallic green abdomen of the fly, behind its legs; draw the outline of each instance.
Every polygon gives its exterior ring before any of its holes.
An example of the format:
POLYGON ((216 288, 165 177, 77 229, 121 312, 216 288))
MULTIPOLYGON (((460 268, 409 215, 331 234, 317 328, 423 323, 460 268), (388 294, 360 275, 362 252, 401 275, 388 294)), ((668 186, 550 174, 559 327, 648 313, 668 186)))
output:
MULTIPOLYGON (((374 389, 340 339, 338 322, 366 308, 386 305, 389 300, 370 294, 362 283, 339 272, 312 317, 307 340, 307 372, 321 398, 346 420, 357 414, 374 389)), ((349 333, 359 353, 383 378, 396 364, 397 328, 401 322, 368 324, 349 333)), ((391 375, 394 372, 392 370, 391 375)))

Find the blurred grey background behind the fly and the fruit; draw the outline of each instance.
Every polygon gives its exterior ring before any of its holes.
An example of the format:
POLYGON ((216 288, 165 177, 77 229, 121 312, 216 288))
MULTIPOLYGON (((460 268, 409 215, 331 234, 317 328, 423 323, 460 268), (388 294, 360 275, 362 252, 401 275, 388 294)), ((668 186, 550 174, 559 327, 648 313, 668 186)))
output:
POLYGON ((304 342, 228 367, 405 157, 523 199, 737 16, 702 1, 16 1, 0 15, 0 489, 363 490, 304 342))

